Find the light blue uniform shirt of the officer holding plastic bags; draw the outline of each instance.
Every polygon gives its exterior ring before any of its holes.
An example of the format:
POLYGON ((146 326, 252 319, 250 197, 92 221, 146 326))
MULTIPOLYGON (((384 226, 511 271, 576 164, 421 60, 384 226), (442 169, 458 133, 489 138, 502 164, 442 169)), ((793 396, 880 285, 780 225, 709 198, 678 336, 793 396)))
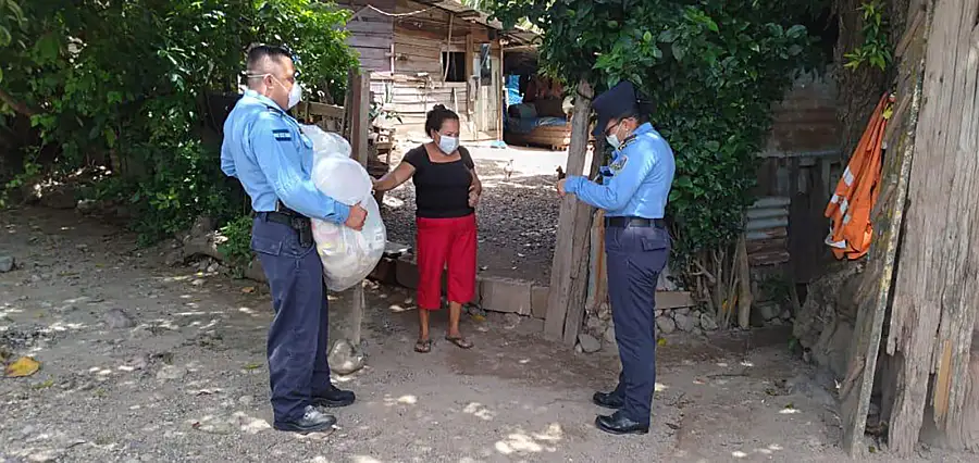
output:
POLYGON ((256 212, 275 211, 275 201, 307 217, 337 224, 350 207, 312 183, 312 141, 278 104, 247 90, 224 123, 221 170, 241 182, 256 212))

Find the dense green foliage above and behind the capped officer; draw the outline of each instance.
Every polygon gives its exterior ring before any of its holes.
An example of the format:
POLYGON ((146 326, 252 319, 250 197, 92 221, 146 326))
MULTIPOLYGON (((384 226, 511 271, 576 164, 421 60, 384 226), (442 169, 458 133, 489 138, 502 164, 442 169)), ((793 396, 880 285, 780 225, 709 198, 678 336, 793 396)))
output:
POLYGON ((505 24, 544 32, 542 65, 600 91, 621 79, 650 98, 677 155, 669 215, 676 250, 723 248, 743 229, 771 104, 814 57, 798 24, 818 2, 776 0, 490 0, 505 24))

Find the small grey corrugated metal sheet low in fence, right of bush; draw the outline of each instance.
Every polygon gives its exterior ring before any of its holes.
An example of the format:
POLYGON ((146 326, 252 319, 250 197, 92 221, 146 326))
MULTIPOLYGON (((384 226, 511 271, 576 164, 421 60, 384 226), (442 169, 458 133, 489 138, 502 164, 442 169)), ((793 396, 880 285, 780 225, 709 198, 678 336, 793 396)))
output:
POLYGON ((748 208, 745 225, 748 262, 774 265, 789 262, 789 207, 786 197, 760 198, 748 208))

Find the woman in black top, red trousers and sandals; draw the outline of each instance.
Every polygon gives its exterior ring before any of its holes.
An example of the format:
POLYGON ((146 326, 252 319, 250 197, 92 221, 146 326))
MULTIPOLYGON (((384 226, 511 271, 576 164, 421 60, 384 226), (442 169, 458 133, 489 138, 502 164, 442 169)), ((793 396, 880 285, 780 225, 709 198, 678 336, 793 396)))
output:
POLYGON ((462 304, 475 296, 475 205, 482 186, 475 164, 459 146, 459 116, 438 104, 425 118, 432 142, 408 151, 394 171, 374 182, 375 191, 387 191, 411 178, 416 189, 418 227, 418 342, 417 352, 430 352, 429 313, 442 306, 442 271, 448 268, 449 326, 445 339, 469 349, 472 342, 459 331, 462 304))

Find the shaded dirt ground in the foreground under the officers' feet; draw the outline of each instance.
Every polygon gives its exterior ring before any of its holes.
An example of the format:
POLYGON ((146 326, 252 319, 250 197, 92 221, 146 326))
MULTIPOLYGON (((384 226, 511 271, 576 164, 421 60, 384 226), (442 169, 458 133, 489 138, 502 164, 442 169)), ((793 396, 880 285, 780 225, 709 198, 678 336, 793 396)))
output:
MULTIPOLYGON (((162 250, 73 213, 8 211, 0 230, 0 256, 20 263, 0 274, 0 346, 42 364, 0 380, 3 462, 843 459, 828 380, 788 355, 784 331, 667 339, 653 429, 615 437, 593 427, 590 403, 616 376, 612 354, 574 354, 513 316, 467 318, 471 351, 442 342, 417 354, 411 295, 376 287, 369 366, 336 378, 357 403, 335 411, 332 433, 277 433, 265 289, 164 267, 162 250)), ((970 460, 921 450, 908 461, 970 460)))

